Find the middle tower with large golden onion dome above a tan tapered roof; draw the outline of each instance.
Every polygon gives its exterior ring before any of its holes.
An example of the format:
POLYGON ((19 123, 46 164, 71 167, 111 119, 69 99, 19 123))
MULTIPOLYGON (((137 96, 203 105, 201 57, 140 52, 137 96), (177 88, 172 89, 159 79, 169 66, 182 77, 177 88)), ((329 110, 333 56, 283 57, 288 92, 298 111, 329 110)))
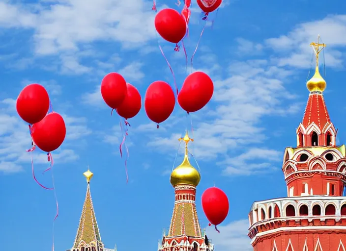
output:
POLYGON ((179 141, 185 142, 183 162, 171 174, 175 202, 168 234, 164 233, 158 251, 214 251, 214 245, 201 231, 196 211, 196 187, 200 173, 190 164, 188 144, 193 141, 188 134, 179 141))

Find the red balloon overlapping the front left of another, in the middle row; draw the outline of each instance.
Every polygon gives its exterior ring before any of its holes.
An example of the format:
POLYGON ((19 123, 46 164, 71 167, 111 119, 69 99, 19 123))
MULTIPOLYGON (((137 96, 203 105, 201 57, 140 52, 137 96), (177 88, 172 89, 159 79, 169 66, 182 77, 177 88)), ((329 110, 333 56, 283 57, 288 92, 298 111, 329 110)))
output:
POLYGON ((122 75, 107 74, 101 82, 101 95, 106 104, 116 109, 126 96, 126 81, 122 75))

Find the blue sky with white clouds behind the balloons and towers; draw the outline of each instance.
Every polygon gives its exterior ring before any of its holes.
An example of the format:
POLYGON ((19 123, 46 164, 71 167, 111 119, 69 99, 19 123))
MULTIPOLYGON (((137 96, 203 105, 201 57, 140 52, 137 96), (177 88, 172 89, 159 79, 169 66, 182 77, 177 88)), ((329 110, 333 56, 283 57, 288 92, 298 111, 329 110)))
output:
MULTIPOLYGON (((157 0, 158 8, 177 8, 157 0)), ((173 84, 157 46, 152 2, 145 0, 0 0, 0 242, 2 249, 24 245, 28 251, 51 249, 54 194, 32 179, 28 128, 17 116, 15 99, 31 82, 44 85, 55 111, 67 124, 67 137, 55 159, 60 214, 56 250, 74 241, 86 192, 83 172, 94 173, 91 193, 101 237, 108 248, 156 250, 173 210, 169 183, 177 138, 190 118, 176 105, 156 129, 144 109, 130 120, 127 139, 129 183, 120 159, 119 118, 99 93, 102 77, 122 74, 142 97, 156 80, 173 84), (135 242, 133 241, 135 239, 135 242)), ((195 142, 191 151, 201 168, 198 198, 213 185, 230 199, 230 214, 220 234, 208 229, 218 251, 250 251, 247 214, 253 201, 287 195, 281 171, 286 146, 295 146, 308 98, 305 80, 311 67, 309 43, 321 35, 325 50, 325 100, 346 140, 343 85, 346 16, 344 1, 225 1, 213 28, 206 28, 193 70, 214 80, 211 102, 191 115, 195 142)), ((182 6, 180 7, 182 8, 182 6)), ((203 24, 192 1, 191 56, 203 24)), ((211 15, 215 18, 215 15, 211 15)), ((185 74, 182 50, 163 42, 178 85, 185 74)), ((191 69, 189 69, 190 71, 191 69)), ((179 155, 176 163, 181 161, 179 155)), ((34 153, 37 177, 51 185, 46 155, 34 153)), ((207 227, 200 199, 200 222, 207 227)))

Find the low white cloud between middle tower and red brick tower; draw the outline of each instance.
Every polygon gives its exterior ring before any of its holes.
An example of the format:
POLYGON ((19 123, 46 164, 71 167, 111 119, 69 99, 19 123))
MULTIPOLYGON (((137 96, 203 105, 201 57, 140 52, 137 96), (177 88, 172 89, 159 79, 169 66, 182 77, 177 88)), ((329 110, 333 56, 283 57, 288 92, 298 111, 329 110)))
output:
POLYGON ((253 251, 250 238, 247 236, 248 220, 238 220, 225 226, 218 226, 220 233, 213 226, 206 228, 206 234, 217 251, 253 251))

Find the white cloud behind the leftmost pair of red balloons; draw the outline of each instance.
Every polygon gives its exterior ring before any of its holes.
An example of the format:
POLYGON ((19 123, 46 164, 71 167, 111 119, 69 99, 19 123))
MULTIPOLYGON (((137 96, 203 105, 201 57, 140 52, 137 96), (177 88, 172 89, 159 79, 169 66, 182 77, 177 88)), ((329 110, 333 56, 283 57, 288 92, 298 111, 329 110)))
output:
MULTIPOLYGON (((66 139, 60 149, 53 152, 55 163, 72 162, 79 158, 71 149, 65 149, 69 142, 91 133, 86 126, 85 118, 74 118, 63 115, 66 123, 66 139)), ((31 157, 34 165, 47 164, 47 154, 35 150, 26 152, 31 146, 29 127, 23 122, 15 110, 15 100, 0 101, 0 172, 16 173, 29 166, 31 157)))

